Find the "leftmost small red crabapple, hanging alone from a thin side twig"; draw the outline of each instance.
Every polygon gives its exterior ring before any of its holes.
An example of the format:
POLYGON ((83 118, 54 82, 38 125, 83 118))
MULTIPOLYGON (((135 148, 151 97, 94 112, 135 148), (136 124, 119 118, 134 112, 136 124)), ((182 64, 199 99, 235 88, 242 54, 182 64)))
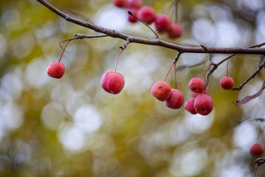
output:
POLYGON ((47 67, 47 74, 56 79, 60 79, 64 75, 64 71, 64 65, 60 61, 53 61, 47 67))

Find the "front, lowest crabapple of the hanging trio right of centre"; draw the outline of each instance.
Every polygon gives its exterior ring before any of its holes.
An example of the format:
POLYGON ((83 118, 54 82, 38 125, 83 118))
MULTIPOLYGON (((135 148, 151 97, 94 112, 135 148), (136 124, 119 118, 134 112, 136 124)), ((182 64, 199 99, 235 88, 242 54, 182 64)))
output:
POLYGON ((206 116, 212 112, 213 101, 211 96, 200 94, 194 100, 194 109, 200 115, 206 116))

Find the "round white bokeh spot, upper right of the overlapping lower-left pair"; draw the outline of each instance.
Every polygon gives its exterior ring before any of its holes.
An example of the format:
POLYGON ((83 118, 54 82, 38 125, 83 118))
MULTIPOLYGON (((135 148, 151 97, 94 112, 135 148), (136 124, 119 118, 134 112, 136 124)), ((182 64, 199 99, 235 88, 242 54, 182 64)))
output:
POLYGON ((74 115, 74 124, 84 133, 93 133, 102 124, 101 115, 94 106, 83 105, 74 115))

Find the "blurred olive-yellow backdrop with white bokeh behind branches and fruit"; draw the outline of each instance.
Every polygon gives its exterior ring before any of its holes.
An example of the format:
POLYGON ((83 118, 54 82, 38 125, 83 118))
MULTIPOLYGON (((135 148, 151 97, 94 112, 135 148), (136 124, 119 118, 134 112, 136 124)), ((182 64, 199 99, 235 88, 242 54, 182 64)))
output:
MULTIPOLYGON (((144 0, 149 5, 153 0, 144 0)), ((140 23, 130 24, 126 10, 110 0, 49 0, 83 21, 151 38, 140 23)), ((174 19, 173 0, 166 0, 174 19)), ((154 2, 162 13, 161 0, 154 2)), ((264 0, 180 0, 178 23, 184 35, 170 40, 187 46, 246 47, 265 42, 264 0)), ((154 25, 151 25, 154 29, 154 25)), ((223 90, 226 62, 211 75, 208 89, 214 109, 191 115, 167 108, 151 95, 164 80, 177 51, 131 43, 117 72, 125 87, 117 95, 101 88, 113 70, 124 40, 110 37, 73 40, 61 61, 61 79, 46 73, 58 60, 59 42, 75 33, 96 34, 60 18, 36 0, 0 0, 0 176, 1 177, 253 177, 249 154, 265 123, 264 94, 241 106, 233 102, 256 93, 262 70, 240 91, 223 90)), ((188 82, 206 65, 228 55, 183 54, 177 89, 185 101, 188 82)), ((229 61, 235 87, 257 69, 261 57, 237 55, 229 61)), ((167 81, 174 88, 174 73, 167 81)), ((265 140, 263 141, 265 142, 265 140)), ((258 169, 265 176, 265 168, 258 169)))

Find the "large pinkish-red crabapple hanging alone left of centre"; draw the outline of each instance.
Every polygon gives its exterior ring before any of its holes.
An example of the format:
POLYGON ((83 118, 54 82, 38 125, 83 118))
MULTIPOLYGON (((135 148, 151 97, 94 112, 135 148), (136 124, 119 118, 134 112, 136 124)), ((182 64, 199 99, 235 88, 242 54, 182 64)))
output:
POLYGON ((111 94, 119 93, 124 87, 124 77, 115 71, 107 71, 101 78, 101 86, 111 94))

